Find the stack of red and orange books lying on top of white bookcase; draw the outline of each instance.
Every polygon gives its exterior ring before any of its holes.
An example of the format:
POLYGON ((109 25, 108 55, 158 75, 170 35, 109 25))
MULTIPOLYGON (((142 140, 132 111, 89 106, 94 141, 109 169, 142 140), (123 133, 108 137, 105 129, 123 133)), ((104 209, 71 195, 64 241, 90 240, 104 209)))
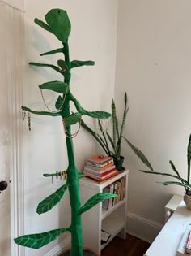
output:
POLYGON ((94 180, 104 181, 118 172, 111 157, 96 154, 87 159, 83 173, 94 180))

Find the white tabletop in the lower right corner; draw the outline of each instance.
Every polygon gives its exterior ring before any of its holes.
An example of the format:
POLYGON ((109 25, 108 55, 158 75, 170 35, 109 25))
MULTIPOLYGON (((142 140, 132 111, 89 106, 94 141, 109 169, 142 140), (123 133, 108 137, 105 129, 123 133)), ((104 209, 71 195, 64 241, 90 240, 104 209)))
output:
POLYGON ((191 223, 191 210, 188 210, 185 202, 182 201, 144 256, 176 256, 181 238, 189 223, 191 223))

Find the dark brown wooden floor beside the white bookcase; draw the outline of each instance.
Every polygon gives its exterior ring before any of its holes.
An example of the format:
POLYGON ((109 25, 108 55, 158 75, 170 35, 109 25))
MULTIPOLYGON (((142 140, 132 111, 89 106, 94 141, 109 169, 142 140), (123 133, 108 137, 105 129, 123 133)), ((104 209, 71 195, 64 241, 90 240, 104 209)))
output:
POLYGON ((145 241, 128 234, 126 240, 116 236, 102 250, 101 256, 142 256, 149 246, 145 241))

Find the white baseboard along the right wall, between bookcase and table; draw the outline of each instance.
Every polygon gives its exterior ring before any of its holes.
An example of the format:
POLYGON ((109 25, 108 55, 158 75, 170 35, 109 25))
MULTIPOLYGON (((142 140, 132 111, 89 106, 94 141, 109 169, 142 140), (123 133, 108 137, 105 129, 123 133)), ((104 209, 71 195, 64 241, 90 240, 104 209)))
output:
POLYGON ((160 223, 156 223, 131 212, 127 213, 126 232, 143 241, 151 244, 162 228, 163 225, 160 223))

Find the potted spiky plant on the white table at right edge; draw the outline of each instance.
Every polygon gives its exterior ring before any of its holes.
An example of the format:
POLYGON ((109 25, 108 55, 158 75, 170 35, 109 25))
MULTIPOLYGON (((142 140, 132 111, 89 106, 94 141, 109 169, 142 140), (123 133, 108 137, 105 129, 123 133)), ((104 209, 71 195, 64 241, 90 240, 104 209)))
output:
POLYGON ((167 186, 167 185, 178 185, 178 186, 182 186, 185 188, 185 196, 184 196, 184 201, 186 206, 188 207, 189 210, 191 210, 191 184, 189 183, 190 180, 190 161, 191 161, 191 134, 189 135, 189 143, 187 146, 187 164, 188 164, 188 169, 187 169, 187 178, 184 179, 180 176, 179 171, 177 171, 174 163, 172 163, 172 161, 170 160, 169 163, 172 167, 172 171, 174 171, 174 175, 169 174, 169 173, 165 173, 165 172, 158 172, 158 171, 153 171, 153 168, 151 167, 151 171, 143 171, 140 170, 144 173, 149 173, 149 174, 155 174, 155 175, 162 175, 162 176, 169 176, 172 177, 174 179, 176 179, 177 181, 165 181, 162 182, 163 185, 167 186))

